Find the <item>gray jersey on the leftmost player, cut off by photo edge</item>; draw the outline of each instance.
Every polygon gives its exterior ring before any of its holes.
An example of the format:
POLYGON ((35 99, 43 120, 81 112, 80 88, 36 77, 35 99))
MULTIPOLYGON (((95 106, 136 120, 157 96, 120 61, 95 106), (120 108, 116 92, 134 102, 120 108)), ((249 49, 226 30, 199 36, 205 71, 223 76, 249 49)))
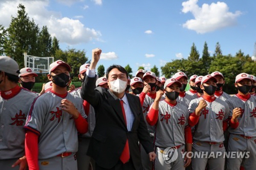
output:
POLYGON ((23 88, 20 88, 17 95, 12 98, 4 99, 0 96, 0 160, 20 158, 25 155, 23 126, 36 97, 34 93, 23 88))

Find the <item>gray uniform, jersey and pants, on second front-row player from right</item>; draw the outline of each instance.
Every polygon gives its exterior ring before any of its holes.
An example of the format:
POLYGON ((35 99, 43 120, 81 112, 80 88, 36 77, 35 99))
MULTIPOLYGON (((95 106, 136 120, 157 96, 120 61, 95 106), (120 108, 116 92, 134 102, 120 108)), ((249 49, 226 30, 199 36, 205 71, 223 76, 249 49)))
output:
MULTIPOLYGON (((203 96, 204 97, 204 96, 203 96)), ((199 101, 203 97, 194 99, 189 104, 189 113, 195 112, 199 101)), ((207 107, 201 111, 198 123, 195 125, 193 136, 193 152, 221 152, 224 154, 224 134, 223 122, 228 121, 229 107, 228 104, 218 98, 214 101, 207 102, 207 107)), ((224 170, 225 159, 223 156, 218 158, 192 158, 193 170, 204 170, 207 162, 210 170, 224 170)))

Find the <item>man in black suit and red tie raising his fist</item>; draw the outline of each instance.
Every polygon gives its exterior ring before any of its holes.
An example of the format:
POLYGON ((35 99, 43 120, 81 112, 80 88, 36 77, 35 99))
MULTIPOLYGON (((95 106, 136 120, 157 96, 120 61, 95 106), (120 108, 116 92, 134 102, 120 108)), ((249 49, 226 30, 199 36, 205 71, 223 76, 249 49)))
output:
POLYGON ((96 126, 87 155, 96 161, 96 170, 140 170, 140 144, 153 161, 153 144, 143 118, 140 99, 128 93, 127 71, 119 65, 107 70, 109 89, 95 88, 95 68, 101 49, 93 49, 81 96, 95 109, 96 126))

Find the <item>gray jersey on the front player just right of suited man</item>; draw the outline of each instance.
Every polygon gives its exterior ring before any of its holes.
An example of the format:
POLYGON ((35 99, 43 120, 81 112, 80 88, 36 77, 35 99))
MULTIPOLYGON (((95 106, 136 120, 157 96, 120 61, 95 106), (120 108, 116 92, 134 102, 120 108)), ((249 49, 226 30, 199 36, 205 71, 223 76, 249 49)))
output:
POLYGON ((187 107, 178 102, 171 106, 166 101, 160 101, 158 112, 154 145, 172 147, 185 144, 184 129, 188 125, 189 117, 187 107))

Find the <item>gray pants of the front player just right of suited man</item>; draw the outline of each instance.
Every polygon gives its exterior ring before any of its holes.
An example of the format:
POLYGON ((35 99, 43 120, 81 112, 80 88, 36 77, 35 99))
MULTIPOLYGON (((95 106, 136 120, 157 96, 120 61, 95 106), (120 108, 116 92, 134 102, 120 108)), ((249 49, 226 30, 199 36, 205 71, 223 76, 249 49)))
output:
POLYGON ((182 153, 185 151, 184 145, 177 149, 177 159, 171 163, 166 163, 163 158, 163 150, 166 148, 156 147, 156 159, 154 161, 154 170, 185 170, 184 158, 182 158, 182 153))

